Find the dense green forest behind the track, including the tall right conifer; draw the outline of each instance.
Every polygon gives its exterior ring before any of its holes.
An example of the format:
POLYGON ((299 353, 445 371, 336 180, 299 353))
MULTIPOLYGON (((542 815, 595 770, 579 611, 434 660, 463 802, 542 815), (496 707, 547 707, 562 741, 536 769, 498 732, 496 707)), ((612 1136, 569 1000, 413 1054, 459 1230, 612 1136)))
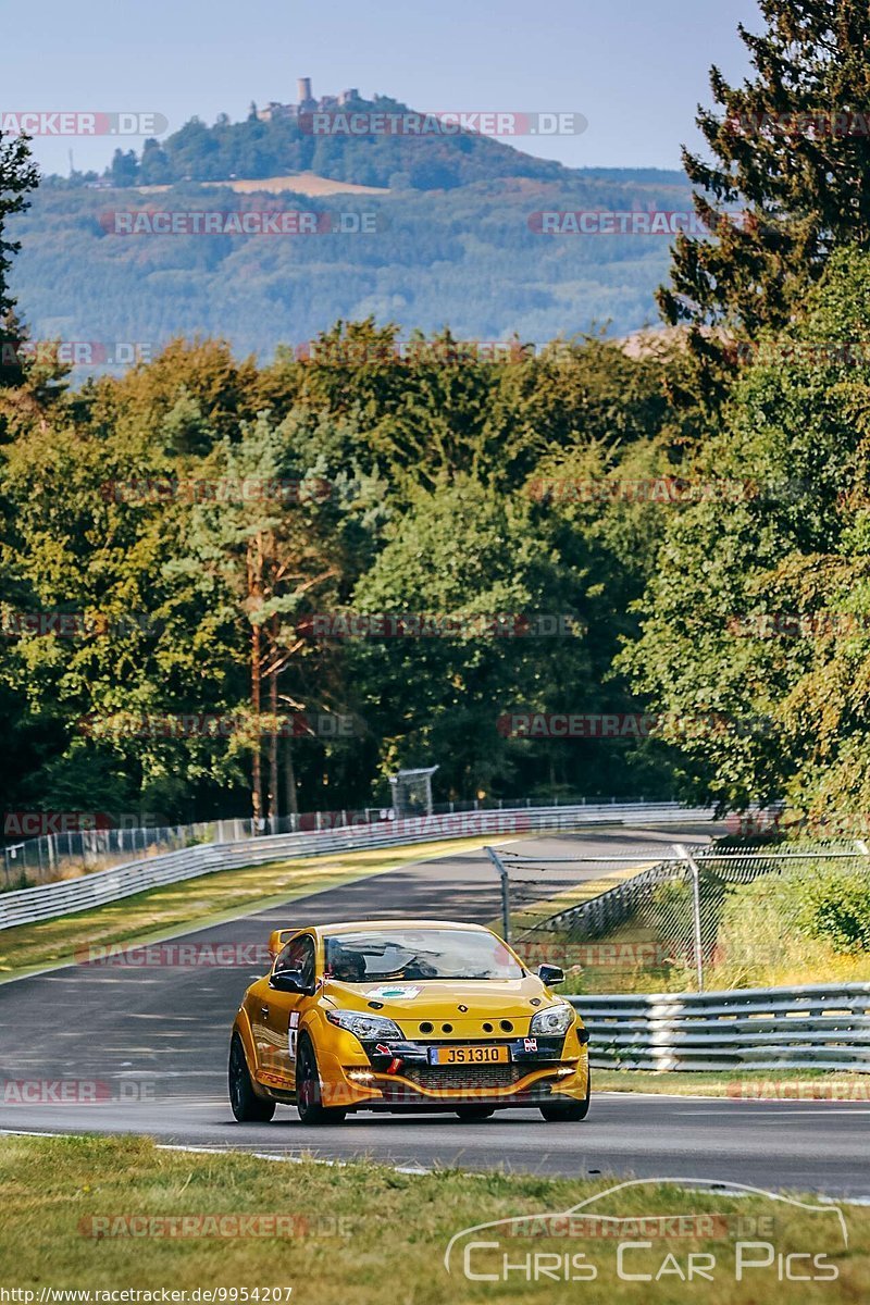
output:
MULTIPOLYGON (((13 805, 284 814, 437 765, 440 801, 867 809, 870 145, 805 124, 866 97, 870 17, 768 8, 755 80, 712 78, 715 162, 685 158, 715 234, 676 239, 669 329, 629 343, 577 328, 566 291, 533 347, 503 305, 483 334, 387 304, 258 360, 222 304, 82 382, 27 348, 42 197, 27 142, 0 142, 13 805), (716 222, 734 205, 757 221, 716 222)), ((93 197, 63 194, 91 239, 93 197)), ((130 291, 181 247, 132 248, 130 291)))

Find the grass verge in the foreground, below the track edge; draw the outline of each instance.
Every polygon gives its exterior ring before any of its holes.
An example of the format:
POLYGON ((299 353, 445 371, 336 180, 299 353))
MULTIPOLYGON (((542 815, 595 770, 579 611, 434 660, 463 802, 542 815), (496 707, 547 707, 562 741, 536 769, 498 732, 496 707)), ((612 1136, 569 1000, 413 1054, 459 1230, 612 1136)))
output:
MULTIPOLYGON (((0 1141, 0 1287, 35 1292, 291 1287, 291 1305, 373 1305, 381 1300, 390 1305, 567 1305, 578 1300, 755 1305, 784 1298, 801 1305, 840 1305, 866 1300, 870 1210, 844 1208, 847 1248, 832 1210, 809 1211, 768 1197, 734 1198, 667 1184, 627 1188, 592 1208, 617 1218, 720 1216, 715 1225, 693 1225, 690 1236, 657 1237, 650 1250, 633 1250, 626 1262, 629 1271, 655 1275, 668 1255, 685 1270, 690 1251, 707 1253, 715 1257, 713 1282, 681 1283, 673 1272, 659 1283, 621 1280, 616 1274, 617 1238, 590 1235, 588 1224, 584 1236, 571 1237, 552 1236, 540 1224, 537 1236, 506 1237, 502 1232, 500 1251, 477 1250, 471 1265, 477 1272, 501 1271, 502 1251, 514 1265, 524 1263, 527 1254, 554 1254, 560 1263, 565 1255, 583 1254, 584 1263, 597 1271, 596 1282, 552 1276, 527 1282, 522 1272, 509 1274, 507 1282, 471 1282, 463 1274, 464 1242, 454 1251, 453 1272, 447 1274, 445 1251, 460 1231, 490 1220, 570 1210, 618 1181, 458 1171, 412 1176, 367 1161, 329 1167, 278 1164, 241 1152, 160 1151, 140 1138, 5 1137, 0 1141), (90 1220, 119 1215, 274 1214, 293 1219, 293 1236, 90 1236, 90 1220), (308 1229, 296 1220, 308 1220, 308 1229), (741 1240, 770 1241, 783 1254, 823 1254, 836 1267, 837 1279, 780 1283, 773 1261, 772 1267, 753 1270, 737 1283, 733 1266, 741 1240)), ((802 1199, 818 1206, 814 1197, 802 1199)), ((117 1225, 103 1223, 106 1227, 117 1225)), ((140 1227, 146 1231, 149 1225, 140 1227)), ((613 1224, 600 1227, 612 1229, 613 1224)), ((479 1236, 493 1240, 498 1233, 479 1236)), ((629 1225, 623 1237, 637 1240, 637 1228, 629 1225)), ((805 1265, 800 1262, 801 1271, 805 1265)))

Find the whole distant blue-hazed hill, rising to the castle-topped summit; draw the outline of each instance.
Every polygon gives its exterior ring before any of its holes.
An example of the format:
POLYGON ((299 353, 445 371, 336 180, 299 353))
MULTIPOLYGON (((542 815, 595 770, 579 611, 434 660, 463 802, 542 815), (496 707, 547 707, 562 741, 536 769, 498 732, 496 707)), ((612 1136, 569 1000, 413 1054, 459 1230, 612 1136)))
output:
POLYGON ((627 334, 656 321, 669 236, 548 235, 533 214, 691 207, 681 172, 577 171, 468 133, 313 140, 284 119, 194 120, 133 162, 123 187, 48 177, 10 223, 23 241, 13 288, 35 338, 120 341, 149 356, 200 333, 269 358, 339 317, 395 321, 403 334, 449 324, 477 339, 543 342, 608 322, 627 334), (128 224, 158 211, 184 226, 205 210, 236 226, 252 210, 301 210, 323 234, 113 231, 119 211, 128 224), (325 230, 342 226, 370 230, 325 230))

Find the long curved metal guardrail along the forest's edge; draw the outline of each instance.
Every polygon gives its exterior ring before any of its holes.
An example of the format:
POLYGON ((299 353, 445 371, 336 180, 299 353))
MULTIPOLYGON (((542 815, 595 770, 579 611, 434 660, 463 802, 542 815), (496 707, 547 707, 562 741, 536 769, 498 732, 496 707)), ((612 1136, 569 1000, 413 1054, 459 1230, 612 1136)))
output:
POLYGON ((163 883, 177 883, 217 870, 240 870, 296 856, 353 851, 367 847, 400 847, 442 838, 479 834, 519 834, 533 830, 563 830, 582 825, 659 825, 712 820, 707 808, 687 809, 678 803, 603 803, 584 806, 519 808, 515 810, 457 812, 420 816, 391 823, 356 825, 318 834, 275 834, 240 843, 207 843, 168 852, 145 861, 116 865, 60 883, 40 883, 0 894, 0 929, 52 920, 59 915, 133 897, 163 883))

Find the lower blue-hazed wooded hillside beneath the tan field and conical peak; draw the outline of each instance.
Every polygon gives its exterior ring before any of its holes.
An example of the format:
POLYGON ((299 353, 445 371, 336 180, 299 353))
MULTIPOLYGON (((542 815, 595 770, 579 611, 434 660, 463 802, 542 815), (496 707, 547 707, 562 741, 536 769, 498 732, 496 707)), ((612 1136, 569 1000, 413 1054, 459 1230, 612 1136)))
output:
MULTIPOLYGON (((351 167, 352 158, 348 151, 344 176, 383 180, 377 171, 351 167)), ((266 171, 278 166, 273 159, 266 171)), ((287 168, 286 159, 280 167, 287 168)), ((237 352, 261 359, 338 318, 372 316, 398 322, 403 334, 449 322, 463 338, 519 334, 537 342, 596 324, 625 334, 653 322, 655 288, 668 273, 667 235, 543 235, 531 230, 533 214, 686 211, 686 179, 680 172, 556 171, 557 180, 507 176, 441 191, 323 198, 240 196, 190 181, 158 193, 47 181, 30 211, 12 223, 23 240, 13 286, 37 338, 145 342, 155 350, 176 335, 220 335, 237 352), (368 214, 376 230, 313 238, 107 231, 117 210, 155 209, 292 209, 327 215, 326 222, 340 213, 368 214)))

